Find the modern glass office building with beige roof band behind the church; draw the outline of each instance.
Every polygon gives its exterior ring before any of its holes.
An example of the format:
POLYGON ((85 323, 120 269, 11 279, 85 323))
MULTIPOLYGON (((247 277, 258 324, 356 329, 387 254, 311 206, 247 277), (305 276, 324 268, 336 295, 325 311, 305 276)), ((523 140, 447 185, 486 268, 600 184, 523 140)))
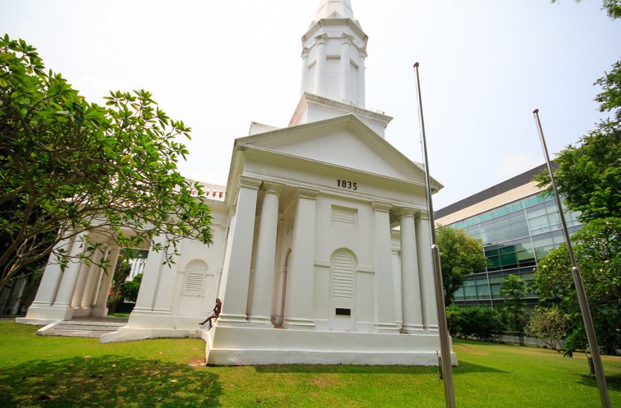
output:
MULTIPOLYGON (((530 181, 541 169, 539 166, 437 211, 439 225, 460 228, 470 237, 481 239, 487 258, 485 270, 468 275, 463 287, 454 294, 456 305, 503 303, 500 288, 506 275, 518 275, 525 282, 532 282, 537 262, 564 242, 553 196, 537 191, 535 183, 530 181), (524 196, 528 192, 533 193, 524 196), (498 205, 504 199, 508 202, 498 205), (485 209, 486 203, 497 206, 475 213, 485 209), (456 218, 461 219, 456 221, 456 218)), ((564 211, 570 233, 580 229, 579 214, 566 208, 564 211)), ((537 303, 538 298, 529 294, 527 301, 537 303)))

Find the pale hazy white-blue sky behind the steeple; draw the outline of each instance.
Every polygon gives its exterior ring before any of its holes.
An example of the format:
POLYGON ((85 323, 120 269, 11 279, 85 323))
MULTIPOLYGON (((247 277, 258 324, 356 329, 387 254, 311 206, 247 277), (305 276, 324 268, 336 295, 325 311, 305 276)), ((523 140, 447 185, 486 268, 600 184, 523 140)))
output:
MULTIPOLYGON (((318 0, 0 0, 0 32, 35 46, 91 102, 147 89, 192 127, 188 178, 226 184, 251 121, 284 127, 300 98, 301 37, 318 0)), ((386 140, 422 161, 420 62, 440 209, 544 162, 594 128, 594 81, 620 57, 621 20, 601 0, 352 0, 369 35, 366 107, 386 140)))

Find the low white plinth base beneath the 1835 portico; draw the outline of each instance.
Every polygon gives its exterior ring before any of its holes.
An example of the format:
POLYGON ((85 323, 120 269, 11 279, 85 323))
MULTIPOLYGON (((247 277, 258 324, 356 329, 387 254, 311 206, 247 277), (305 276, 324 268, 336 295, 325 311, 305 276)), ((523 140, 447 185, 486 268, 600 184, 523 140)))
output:
MULTIPOLYGON (((437 365, 437 333, 384 334, 347 331, 214 327, 202 331, 207 364, 437 365)), ((455 353, 451 353, 457 365, 455 353)))

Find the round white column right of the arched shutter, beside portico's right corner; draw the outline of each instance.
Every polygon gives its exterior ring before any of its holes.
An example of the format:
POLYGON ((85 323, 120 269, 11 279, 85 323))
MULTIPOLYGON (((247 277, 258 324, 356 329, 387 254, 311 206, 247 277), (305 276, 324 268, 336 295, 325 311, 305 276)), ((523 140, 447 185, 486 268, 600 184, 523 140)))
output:
POLYGON ((414 211, 404 209, 401 213, 401 290, 402 328, 405 331, 423 330, 423 310, 421 307, 421 286, 420 282, 418 282, 416 244, 414 211))

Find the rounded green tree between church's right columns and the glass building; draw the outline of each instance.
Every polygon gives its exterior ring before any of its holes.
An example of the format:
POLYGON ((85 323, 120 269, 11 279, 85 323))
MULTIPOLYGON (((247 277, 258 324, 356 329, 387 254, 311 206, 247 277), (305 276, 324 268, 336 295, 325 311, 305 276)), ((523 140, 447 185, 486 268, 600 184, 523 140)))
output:
POLYGON ((437 244, 442 251, 442 286, 444 303, 449 305, 453 294, 466 279, 466 275, 485 268, 486 258, 480 240, 468 237, 463 230, 440 226, 437 244))

